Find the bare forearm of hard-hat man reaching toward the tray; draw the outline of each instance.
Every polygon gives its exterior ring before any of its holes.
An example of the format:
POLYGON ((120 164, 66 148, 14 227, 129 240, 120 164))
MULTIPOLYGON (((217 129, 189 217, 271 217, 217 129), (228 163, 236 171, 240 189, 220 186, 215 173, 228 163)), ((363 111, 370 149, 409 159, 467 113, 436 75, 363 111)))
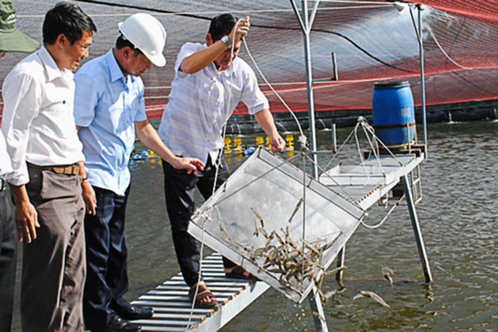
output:
POLYGON ((204 164, 201 160, 190 157, 176 157, 171 150, 169 150, 157 131, 149 123, 149 120, 135 121, 135 133, 145 146, 149 147, 152 151, 156 152, 159 157, 169 162, 176 170, 186 170, 187 174, 194 172, 197 175, 197 170, 203 170, 204 164))

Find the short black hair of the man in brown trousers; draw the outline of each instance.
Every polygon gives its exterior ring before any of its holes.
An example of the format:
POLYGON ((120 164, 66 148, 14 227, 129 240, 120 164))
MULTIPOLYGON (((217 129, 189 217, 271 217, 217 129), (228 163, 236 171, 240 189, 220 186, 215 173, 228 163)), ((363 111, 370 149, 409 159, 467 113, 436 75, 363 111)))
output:
POLYGON ((73 45, 83 37, 83 30, 97 32, 97 27, 90 16, 77 5, 59 2, 45 15, 43 21, 43 43, 53 45, 60 33, 63 33, 73 45))

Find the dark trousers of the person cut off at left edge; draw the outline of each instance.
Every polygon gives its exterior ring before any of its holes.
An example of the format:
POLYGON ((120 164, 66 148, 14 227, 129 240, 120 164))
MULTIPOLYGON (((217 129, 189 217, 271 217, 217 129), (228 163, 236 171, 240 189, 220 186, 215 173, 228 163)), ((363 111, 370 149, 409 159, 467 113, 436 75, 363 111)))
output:
MULTIPOLYGON (((0 188, 1 190, 1 188, 0 188)), ((11 331, 16 281, 17 232, 6 190, 0 192, 0 331, 11 331)))

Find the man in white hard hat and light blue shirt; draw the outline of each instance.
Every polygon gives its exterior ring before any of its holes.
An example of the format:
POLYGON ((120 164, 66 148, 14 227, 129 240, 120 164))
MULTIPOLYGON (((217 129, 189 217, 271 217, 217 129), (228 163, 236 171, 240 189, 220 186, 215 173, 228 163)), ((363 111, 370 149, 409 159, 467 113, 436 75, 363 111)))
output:
POLYGON ((83 183, 88 268, 83 314, 91 331, 139 331, 129 321, 153 314, 152 308, 123 299, 128 289, 124 215, 135 135, 177 170, 187 174, 203 168, 195 158, 176 157, 145 115, 139 76, 152 64, 166 64, 164 27, 154 16, 139 13, 119 24, 119 30, 115 47, 75 75, 75 121, 88 175, 83 183))

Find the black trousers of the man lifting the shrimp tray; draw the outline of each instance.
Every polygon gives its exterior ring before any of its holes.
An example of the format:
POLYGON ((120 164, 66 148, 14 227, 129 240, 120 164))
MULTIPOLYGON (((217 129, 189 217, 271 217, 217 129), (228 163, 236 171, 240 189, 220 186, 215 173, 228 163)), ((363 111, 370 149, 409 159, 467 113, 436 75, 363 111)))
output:
MULTIPOLYGON (((216 189, 223 185, 230 175, 223 156, 221 156, 220 161, 223 168, 218 170, 216 189)), ((202 172, 198 171, 197 175, 187 175, 185 170, 175 170, 164 160, 162 161, 162 167, 164 170, 166 209, 171 223, 176 258, 186 284, 193 286, 198 281, 200 266, 200 253, 196 239, 187 232, 189 220, 194 214, 194 191, 197 187, 205 199, 211 197, 213 185, 215 185, 216 167, 211 165, 210 159, 206 162, 205 169, 202 172)), ((235 266, 232 261, 224 257, 223 265, 226 268, 235 266)))

